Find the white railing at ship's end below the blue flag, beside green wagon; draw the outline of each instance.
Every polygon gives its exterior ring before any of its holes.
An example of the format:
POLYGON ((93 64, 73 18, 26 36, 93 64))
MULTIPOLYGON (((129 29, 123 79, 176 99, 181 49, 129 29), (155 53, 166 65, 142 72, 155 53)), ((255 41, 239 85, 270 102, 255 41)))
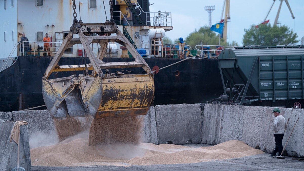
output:
POLYGON ((232 48, 235 46, 219 46, 219 45, 196 45, 195 49, 200 52, 202 58, 217 58, 221 51, 225 48, 232 48))

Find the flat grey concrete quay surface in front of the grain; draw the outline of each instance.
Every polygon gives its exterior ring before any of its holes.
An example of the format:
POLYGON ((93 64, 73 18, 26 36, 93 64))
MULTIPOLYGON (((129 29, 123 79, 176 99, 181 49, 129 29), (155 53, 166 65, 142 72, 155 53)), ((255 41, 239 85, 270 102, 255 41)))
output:
POLYGON ((252 155, 243 158, 214 160, 189 164, 149 165, 149 166, 80 166, 80 167, 43 167, 32 166, 33 171, 90 171, 90 170, 303 170, 304 162, 270 158, 269 154, 252 155))

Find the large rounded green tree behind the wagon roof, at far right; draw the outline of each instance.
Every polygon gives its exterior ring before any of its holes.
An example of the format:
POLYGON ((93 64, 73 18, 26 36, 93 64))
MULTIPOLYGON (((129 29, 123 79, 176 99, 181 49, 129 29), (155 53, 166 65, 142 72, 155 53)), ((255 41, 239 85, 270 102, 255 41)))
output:
POLYGON ((249 29, 244 29, 244 31, 244 46, 276 46, 299 42, 299 40, 296 40, 297 33, 289 30, 285 25, 272 27, 270 24, 260 24, 258 28, 252 25, 249 29))

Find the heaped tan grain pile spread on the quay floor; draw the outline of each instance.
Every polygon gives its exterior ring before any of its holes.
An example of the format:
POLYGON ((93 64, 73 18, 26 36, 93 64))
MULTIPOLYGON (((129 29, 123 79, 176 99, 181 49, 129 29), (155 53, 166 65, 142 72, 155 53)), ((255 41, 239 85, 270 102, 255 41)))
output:
POLYGON ((242 141, 226 141, 212 147, 190 148, 171 144, 88 145, 88 135, 68 138, 56 145, 31 149, 33 166, 179 164, 263 154, 242 141))

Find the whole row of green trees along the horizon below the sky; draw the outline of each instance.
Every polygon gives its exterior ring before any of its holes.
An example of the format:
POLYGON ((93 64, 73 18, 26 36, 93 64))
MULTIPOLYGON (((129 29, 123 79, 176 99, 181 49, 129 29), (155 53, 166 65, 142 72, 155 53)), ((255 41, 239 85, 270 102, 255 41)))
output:
MULTIPOLYGON (((276 46, 285 44, 304 44, 304 37, 297 40, 298 35, 293 30, 290 30, 287 26, 271 26, 268 24, 260 24, 258 27, 255 25, 250 26, 249 29, 244 29, 245 34, 243 36, 243 46, 276 46)), ((178 38, 172 41, 168 37, 163 38, 164 44, 178 43, 178 38)), ((190 33, 185 42, 192 48, 198 44, 219 44, 219 35, 210 30, 209 26, 202 26, 199 30, 190 33)), ((220 39, 220 45, 239 46, 237 42, 224 42, 223 38, 220 39)))

